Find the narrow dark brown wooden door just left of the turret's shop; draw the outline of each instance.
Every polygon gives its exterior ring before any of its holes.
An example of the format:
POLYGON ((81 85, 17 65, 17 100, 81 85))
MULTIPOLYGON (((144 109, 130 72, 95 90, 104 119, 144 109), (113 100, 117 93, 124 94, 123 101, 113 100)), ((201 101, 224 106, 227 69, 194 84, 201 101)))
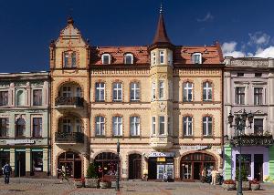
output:
POLYGON ((140 154, 129 155, 129 179, 142 179, 142 156, 140 154))

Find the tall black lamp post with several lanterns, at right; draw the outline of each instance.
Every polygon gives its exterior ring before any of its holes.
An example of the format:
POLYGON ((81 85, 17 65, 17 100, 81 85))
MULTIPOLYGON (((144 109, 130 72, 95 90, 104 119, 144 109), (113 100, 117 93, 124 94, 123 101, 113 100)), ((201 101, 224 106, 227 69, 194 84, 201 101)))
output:
POLYGON ((237 145, 239 147, 237 195, 243 195, 242 173, 241 173, 241 166, 242 166, 242 147, 241 147, 242 138, 241 137, 245 128, 251 128, 251 124, 253 123, 254 116, 251 112, 248 114, 246 110, 244 109, 244 112, 242 114, 236 115, 234 119, 234 125, 233 125, 234 116, 231 114, 231 111, 227 118, 228 118, 228 123, 230 124, 230 128, 233 127, 235 129, 237 145), (248 118, 249 126, 246 125, 247 118, 248 118))

